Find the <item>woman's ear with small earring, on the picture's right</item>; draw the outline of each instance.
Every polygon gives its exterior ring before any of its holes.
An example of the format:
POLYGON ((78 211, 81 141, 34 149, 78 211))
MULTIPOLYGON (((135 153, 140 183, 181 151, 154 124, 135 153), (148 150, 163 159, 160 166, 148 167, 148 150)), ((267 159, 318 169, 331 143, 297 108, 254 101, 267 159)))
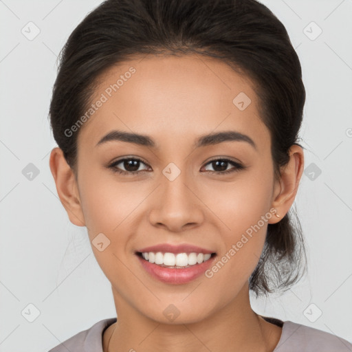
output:
POLYGON ((289 149, 289 162, 281 168, 281 180, 275 181, 272 208, 279 217, 272 217, 269 223, 277 223, 289 211, 296 198, 304 168, 303 148, 294 144, 289 149))

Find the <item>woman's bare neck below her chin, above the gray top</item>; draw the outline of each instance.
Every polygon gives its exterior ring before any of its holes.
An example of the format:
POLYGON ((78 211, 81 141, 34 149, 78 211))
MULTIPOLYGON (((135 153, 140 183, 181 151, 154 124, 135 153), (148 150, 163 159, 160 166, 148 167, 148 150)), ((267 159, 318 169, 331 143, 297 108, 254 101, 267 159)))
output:
POLYGON ((114 294, 115 306, 119 307, 118 321, 104 332, 104 352, 269 352, 281 336, 280 327, 252 310, 248 284, 228 305, 189 324, 151 320, 119 298, 114 294))

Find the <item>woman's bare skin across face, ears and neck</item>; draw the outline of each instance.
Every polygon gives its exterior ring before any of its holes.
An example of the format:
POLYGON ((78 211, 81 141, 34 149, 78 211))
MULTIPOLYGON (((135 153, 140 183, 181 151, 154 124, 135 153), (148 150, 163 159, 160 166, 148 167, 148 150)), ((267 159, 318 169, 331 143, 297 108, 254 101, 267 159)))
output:
POLYGON ((259 117, 251 81, 214 58, 146 56, 120 63, 100 77, 92 102, 131 66, 135 74, 80 128, 77 178, 60 148, 50 155, 70 221, 87 226, 91 241, 100 232, 110 240, 102 252, 92 245, 118 315, 104 331, 103 351, 109 341, 110 352, 273 351, 282 329, 252 310, 248 278, 267 223, 280 221, 294 202, 303 149, 292 146, 276 180, 270 132, 259 117), (243 111, 232 103, 240 92, 252 100, 243 111), (159 148, 120 141, 96 146, 113 129, 149 135, 159 148), (228 130, 250 136, 256 148, 243 141, 192 147, 200 135, 228 130), (138 170, 146 172, 120 175, 106 167, 122 157, 142 158, 138 170), (224 168, 210 161, 221 157, 245 168, 218 175, 214 171, 224 168), (181 170, 173 181, 162 173, 170 162, 181 170), (271 208, 280 218, 265 222, 212 278, 162 283, 135 256, 149 245, 190 243, 217 252, 219 259, 271 208), (180 313, 172 322, 163 314, 170 304, 180 313))

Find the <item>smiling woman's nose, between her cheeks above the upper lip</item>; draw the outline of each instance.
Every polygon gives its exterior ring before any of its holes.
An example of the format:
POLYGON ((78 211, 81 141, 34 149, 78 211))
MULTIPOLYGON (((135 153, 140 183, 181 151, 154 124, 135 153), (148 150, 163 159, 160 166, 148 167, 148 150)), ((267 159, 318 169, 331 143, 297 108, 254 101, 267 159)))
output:
POLYGON ((197 194, 197 187, 190 186, 193 183, 187 182, 184 173, 181 172, 173 181, 162 176, 161 182, 149 212, 152 225, 164 227, 170 232, 181 232, 201 225, 205 206, 201 202, 201 195, 197 194))

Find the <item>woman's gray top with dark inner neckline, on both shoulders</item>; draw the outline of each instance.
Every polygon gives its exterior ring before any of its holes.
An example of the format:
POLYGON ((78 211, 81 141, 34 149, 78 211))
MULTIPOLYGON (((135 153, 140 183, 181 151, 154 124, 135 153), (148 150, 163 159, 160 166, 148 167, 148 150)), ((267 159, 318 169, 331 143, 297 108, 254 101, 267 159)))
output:
MULTIPOLYGON (((343 338, 312 327, 286 320, 262 316, 268 322, 283 327, 281 338, 272 352, 352 352, 352 344, 343 338)), ((102 333, 116 318, 96 322, 49 352, 102 352, 102 333)))

